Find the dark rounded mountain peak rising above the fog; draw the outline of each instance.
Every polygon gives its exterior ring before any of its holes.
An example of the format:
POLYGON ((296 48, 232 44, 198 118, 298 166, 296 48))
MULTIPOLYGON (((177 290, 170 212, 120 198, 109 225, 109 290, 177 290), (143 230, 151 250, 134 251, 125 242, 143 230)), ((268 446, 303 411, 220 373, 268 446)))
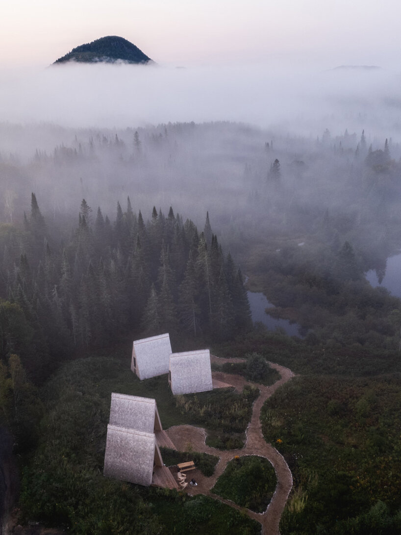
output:
POLYGON ((109 35, 91 43, 81 44, 65 56, 58 58, 53 65, 69 61, 79 63, 153 63, 135 44, 117 35, 109 35))

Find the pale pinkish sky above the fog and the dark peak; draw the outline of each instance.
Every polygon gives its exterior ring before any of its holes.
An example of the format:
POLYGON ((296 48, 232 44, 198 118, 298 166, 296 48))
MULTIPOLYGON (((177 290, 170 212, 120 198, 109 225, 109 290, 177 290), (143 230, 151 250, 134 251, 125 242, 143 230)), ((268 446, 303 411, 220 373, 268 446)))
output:
POLYGON ((106 35, 162 65, 389 66, 400 12, 398 0, 3 0, 0 67, 47 66, 106 35))

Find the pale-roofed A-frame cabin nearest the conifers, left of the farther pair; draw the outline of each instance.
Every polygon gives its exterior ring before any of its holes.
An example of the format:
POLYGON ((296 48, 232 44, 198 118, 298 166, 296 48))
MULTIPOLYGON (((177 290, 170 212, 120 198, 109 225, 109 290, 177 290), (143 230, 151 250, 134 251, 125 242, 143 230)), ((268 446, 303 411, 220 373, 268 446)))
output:
POLYGON ((135 340, 132 349, 131 370, 141 379, 168 373, 171 343, 169 334, 135 340))

